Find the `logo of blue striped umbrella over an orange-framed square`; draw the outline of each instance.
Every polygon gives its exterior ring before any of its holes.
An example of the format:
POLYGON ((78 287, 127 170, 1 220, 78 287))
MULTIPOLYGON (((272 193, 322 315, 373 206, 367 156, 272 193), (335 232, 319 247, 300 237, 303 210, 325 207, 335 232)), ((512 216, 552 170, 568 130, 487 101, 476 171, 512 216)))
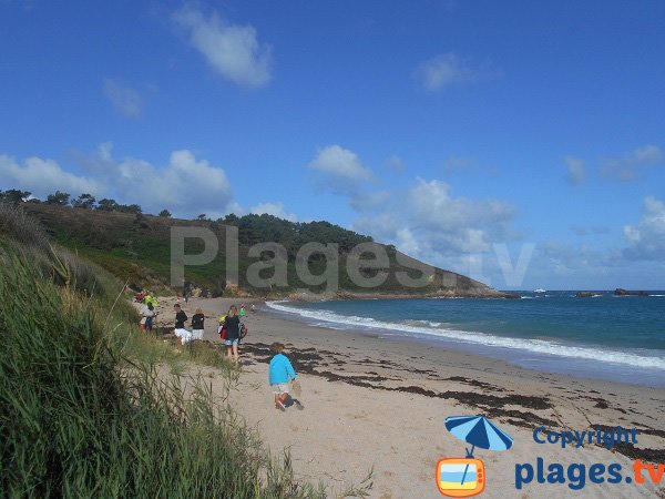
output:
POLYGON ((463 458, 443 458, 437 461, 437 487, 448 497, 471 497, 482 493, 487 483, 484 464, 475 459, 475 448, 508 450, 513 439, 484 416, 451 416, 446 418, 446 429, 453 437, 471 445, 463 458))

